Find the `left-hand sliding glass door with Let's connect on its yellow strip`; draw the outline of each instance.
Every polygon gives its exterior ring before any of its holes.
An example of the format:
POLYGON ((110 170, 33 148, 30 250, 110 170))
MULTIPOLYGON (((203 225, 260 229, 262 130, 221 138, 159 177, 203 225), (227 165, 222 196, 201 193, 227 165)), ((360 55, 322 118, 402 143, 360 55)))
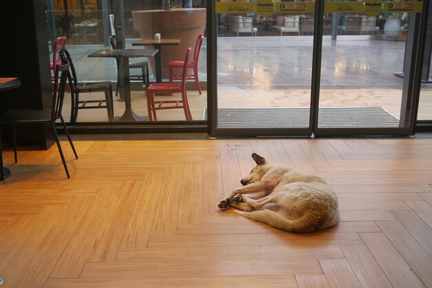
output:
POLYGON ((215 12, 211 134, 311 135, 315 2, 221 0, 215 12))

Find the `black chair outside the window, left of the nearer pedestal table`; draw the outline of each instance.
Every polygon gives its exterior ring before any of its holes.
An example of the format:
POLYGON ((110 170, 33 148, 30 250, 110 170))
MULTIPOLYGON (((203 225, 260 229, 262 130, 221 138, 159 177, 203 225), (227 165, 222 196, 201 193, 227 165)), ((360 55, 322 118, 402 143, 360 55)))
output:
POLYGON ((60 58, 70 63, 70 74, 68 76, 70 86, 70 122, 77 122, 78 110, 106 108, 108 121, 114 118, 114 108, 112 107, 112 85, 110 81, 78 83, 77 73, 72 62, 72 58, 66 48, 59 50, 60 58), (100 100, 79 100, 79 94, 90 92, 105 92, 105 99, 100 100), (105 103, 105 105, 103 105, 105 103), (88 105, 90 104, 90 105, 88 105), (96 104, 96 105, 95 105, 96 104))

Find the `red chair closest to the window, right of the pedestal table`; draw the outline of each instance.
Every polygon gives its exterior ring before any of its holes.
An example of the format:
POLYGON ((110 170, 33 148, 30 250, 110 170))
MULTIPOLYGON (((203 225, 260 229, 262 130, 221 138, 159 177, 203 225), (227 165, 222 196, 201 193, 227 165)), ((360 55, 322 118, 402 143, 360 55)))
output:
MULTIPOLYGON (((184 56, 184 63, 188 63, 190 54, 190 47, 186 50, 186 56, 184 56)), ((148 120, 157 121, 156 110, 166 109, 179 109, 183 108, 184 116, 186 120, 191 121, 192 115, 190 114, 188 97, 186 95, 186 80, 188 74, 188 65, 183 66, 183 73, 181 73, 181 83, 151 83, 147 88, 147 109, 148 109, 148 120), (167 101, 155 101, 155 94, 173 94, 181 93, 181 99, 179 100, 167 100, 167 101), (163 104, 171 103, 175 105, 162 106, 163 104), (158 104, 156 106, 156 104, 158 104)))

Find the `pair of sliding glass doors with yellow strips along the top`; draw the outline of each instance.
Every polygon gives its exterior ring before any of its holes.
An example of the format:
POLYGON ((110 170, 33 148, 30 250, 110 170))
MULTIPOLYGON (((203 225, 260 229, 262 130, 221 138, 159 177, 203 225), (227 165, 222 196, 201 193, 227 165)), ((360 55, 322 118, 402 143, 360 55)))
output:
POLYGON ((210 134, 414 133, 422 1, 221 0, 213 9, 210 134))

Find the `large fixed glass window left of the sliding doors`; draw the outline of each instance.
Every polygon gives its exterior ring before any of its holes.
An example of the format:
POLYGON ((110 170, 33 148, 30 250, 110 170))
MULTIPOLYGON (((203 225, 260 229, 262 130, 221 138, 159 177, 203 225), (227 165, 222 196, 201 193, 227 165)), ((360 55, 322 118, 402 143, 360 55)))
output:
MULTIPOLYGON (((102 81, 112 83, 113 121, 148 122, 148 108, 158 109, 157 101, 167 102, 161 104, 162 107, 177 105, 176 109, 156 110, 157 121, 202 120, 207 103, 205 4, 205 1, 200 0, 47 0, 51 62, 57 37, 65 36, 66 49, 75 67, 78 82, 93 85, 102 81), (159 34, 160 41, 155 41, 156 34, 159 34), (112 49, 112 35, 115 35, 117 48, 141 52, 128 56, 123 52, 117 53, 117 56, 95 54, 102 49, 112 49), (204 38, 197 46, 197 53, 195 44, 199 35, 203 35, 204 38), (137 43, 140 40, 148 42, 137 43), (170 81, 170 67, 173 68, 173 82, 181 87, 184 67, 181 61, 184 61, 189 46, 190 63, 185 74, 184 96, 181 89, 163 94, 159 93, 159 88, 152 90, 152 84, 160 86, 170 81), (156 52, 142 56, 142 50, 156 52), (129 65, 129 69, 126 69, 126 64, 129 65), (155 105, 148 104, 150 102, 147 99, 147 92, 150 91, 157 91, 154 96, 155 105), (181 106, 188 106, 188 109, 181 106), (188 113, 191 117, 187 116, 188 113)), ((63 107, 63 116, 66 120, 90 123, 109 121, 109 112, 104 108, 106 96, 103 91, 81 90, 79 98, 76 94, 73 97, 70 95, 71 100, 63 107), (101 100, 101 103, 97 102, 98 100, 101 100), (102 108, 87 109, 92 106, 102 108), (80 108, 75 109, 76 107, 80 108), (81 109, 82 107, 85 109, 81 109)), ((68 96, 66 99, 69 99, 68 96)), ((152 118, 155 120, 154 116, 152 118)))

